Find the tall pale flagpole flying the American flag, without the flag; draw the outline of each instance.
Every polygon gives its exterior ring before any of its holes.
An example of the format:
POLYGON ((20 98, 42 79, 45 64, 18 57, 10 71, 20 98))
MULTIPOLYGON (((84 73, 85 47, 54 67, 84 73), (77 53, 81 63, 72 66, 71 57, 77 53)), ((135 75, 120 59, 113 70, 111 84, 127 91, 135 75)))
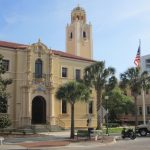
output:
MULTIPOLYGON (((139 46, 141 48, 141 40, 139 39, 139 46)), ((141 66, 141 59, 140 59, 140 66, 141 66)), ((140 67, 141 70, 141 67, 140 67)), ((141 70, 142 71, 142 70, 141 70)), ((143 124, 146 124, 146 114, 145 114, 145 92, 142 84, 142 103, 143 103, 143 124)))

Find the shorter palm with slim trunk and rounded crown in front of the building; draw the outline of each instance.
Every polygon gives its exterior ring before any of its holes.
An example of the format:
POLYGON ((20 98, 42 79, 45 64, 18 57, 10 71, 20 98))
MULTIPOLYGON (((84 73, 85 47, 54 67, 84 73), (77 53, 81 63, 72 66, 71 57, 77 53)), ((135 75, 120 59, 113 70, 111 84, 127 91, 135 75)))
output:
POLYGON ((60 86, 56 92, 58 100, 66 100, 71 107, 71 133, 70 138, 74 138, 74 105, 77 101, 88 101, 90 98, 90 89, 83 83, 70 81, 60 86))

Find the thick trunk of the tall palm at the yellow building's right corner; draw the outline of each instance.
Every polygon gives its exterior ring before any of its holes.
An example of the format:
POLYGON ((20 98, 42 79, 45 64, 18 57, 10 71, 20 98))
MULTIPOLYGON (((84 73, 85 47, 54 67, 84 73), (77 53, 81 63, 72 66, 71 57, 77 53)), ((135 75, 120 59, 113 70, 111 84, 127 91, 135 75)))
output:
POLYGON ((102 113, 100 113, 100 108, 102 104, 102 101, 101 101, 102 91, 101 90, 96 91, 96 97, 97 97, 97 129, 100 130, 102 129, 102 120, 103 120, 102 113))

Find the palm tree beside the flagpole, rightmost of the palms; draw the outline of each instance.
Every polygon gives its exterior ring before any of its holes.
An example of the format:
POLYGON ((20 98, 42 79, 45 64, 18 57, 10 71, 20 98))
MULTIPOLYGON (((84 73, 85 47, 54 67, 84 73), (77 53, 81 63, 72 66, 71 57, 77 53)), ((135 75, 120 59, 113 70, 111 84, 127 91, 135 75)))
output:
POLYGON ((135 103, 135 126, 138 125, 138 110, 137 110, 137 97, 141 90, 147 90, 150 87, 150 76, 147 71, 140 72, 139 68, 129 68, 126 72, 120 75, 120 87, 122 89, 130 89, 131 95, 135 103))

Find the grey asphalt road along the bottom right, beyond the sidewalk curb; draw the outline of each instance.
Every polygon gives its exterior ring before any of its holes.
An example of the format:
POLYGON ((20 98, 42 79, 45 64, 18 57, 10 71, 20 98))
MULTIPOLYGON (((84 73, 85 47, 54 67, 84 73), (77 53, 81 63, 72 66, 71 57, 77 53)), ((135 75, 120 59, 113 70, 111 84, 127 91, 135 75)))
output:
POLYGON ((138 137, 135 140, 118 140, 113 144, 71 145, 68 147, 44 148, 44 150, 150 150, 150 137, 138 137))

